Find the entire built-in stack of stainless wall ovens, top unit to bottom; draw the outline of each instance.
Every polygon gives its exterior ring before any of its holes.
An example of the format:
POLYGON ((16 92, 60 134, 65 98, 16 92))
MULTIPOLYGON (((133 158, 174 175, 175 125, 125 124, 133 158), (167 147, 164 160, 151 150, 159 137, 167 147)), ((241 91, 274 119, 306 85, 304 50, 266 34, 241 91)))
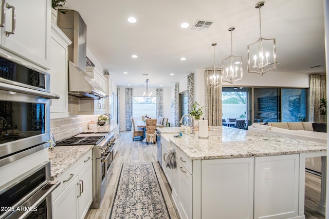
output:
POLYGON ((49 74, 27 66, 0 57, 0 218, 50 218, 58 186, 47 148, 50 99, 59 96, 49 74))

